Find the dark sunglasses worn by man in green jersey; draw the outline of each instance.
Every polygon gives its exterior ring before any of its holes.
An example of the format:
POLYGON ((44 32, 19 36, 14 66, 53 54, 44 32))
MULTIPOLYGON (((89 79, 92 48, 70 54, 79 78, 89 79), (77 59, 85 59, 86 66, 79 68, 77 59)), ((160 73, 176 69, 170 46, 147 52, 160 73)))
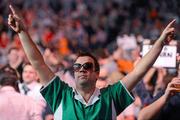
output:
POLYGON ((93 70, 93 63, 87 62, 84 64, 75 63, 73 65, 74 71, 78 72, 83 67, 84 70, 93 70))

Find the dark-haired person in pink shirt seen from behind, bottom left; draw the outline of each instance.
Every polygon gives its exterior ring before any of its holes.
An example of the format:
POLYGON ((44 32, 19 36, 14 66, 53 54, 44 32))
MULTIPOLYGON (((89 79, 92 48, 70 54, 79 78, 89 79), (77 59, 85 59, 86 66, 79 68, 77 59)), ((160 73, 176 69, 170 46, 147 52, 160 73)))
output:
POLYGON ((10 66, 0 68, 1 120, 42 120, 39 105, 18 93, 18 76, 10 66))

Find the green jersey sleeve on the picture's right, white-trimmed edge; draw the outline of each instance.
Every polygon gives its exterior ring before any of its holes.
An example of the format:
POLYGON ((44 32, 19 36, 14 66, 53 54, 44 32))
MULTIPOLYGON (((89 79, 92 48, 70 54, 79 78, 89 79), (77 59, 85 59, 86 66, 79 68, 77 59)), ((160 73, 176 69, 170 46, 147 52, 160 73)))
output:
POLYGON ((131 96, 121 81, 110 87, 110 93, 117 115, 120 114, 132 102, 134 102, 134 98, 131 96))

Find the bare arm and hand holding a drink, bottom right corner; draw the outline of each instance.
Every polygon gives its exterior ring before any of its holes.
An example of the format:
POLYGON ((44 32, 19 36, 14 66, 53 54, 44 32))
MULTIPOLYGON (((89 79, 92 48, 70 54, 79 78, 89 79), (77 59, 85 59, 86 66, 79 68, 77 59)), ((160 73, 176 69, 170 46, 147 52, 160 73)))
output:
POLYGON ((166 102, 168 101, 170 96, 173 95, 174 93, 178 92, 178 90, 180 90, 180 88, 176 88, 174 86, 174 84, 180 84, 180 79, 174 78, 172 80, 172 82, 170 82, 168 84, 166 92, 163 96, 161 96, 154 103, 143 108, 138 115, 138 120, 152 120, 152 119, 154 119, 158 115, 160 110, 163 108, 163 106, 166 104, 166 102))

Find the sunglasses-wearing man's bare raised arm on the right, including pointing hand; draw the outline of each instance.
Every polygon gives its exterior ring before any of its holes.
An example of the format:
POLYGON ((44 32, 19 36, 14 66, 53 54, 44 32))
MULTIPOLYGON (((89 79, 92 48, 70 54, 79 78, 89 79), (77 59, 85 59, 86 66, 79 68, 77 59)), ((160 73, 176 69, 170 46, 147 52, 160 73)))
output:
POLYGON ((174 22, 175 20, 171 21, 167 25, 151 50, 140 60, 134 70, 122 79, 123 84, 129 91, 134 88, 134 86, 141 80, 143 75, 145 75, 149 68, 154 64, 164 46, 164 43, 171 41, 174 34, 174 28, 172 27, 174 22))

